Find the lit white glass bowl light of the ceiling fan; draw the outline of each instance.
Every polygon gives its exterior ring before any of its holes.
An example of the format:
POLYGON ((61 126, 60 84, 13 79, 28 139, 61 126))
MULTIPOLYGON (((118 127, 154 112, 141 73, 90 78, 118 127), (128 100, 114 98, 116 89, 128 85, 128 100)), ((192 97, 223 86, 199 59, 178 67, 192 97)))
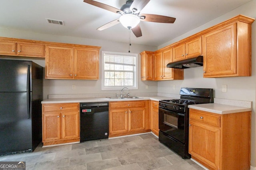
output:
POLYGON ((136 27, 140 23, 140 18, 134 14, 124 14, 119 18, 120 23, 128 29, 136 27))

